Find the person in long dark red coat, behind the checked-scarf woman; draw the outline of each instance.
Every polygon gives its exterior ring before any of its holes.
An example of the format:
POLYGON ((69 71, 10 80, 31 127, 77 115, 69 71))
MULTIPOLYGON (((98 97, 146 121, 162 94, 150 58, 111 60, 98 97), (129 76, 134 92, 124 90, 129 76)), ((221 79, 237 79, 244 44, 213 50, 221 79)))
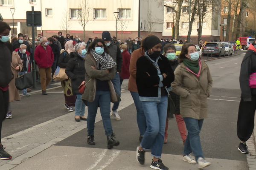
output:
POLYGON ((123 80, 129 79, 130 77, 129 67, 131 55, 127 51, 127 45, 125 44, 120 45, 120 51, 122 53, 122 71, 120 74, 120 84, 122 85, 123 80))

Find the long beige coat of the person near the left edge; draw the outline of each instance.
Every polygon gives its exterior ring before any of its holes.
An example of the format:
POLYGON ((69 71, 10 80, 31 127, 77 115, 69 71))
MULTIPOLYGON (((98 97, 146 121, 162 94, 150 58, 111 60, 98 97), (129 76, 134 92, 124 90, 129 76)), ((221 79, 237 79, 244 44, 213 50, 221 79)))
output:
POLYGON ((20 100, 20 94, 15 86, 15 79, 19 75, 19 71, 23 69, 23 63, 21 62, 20 56, 17 52, 12 52, 12 63, 11 63, 12 74, 14 75, 12 81, 9 83, 9 102, 20 100), (15 70, 17 66, 20 66, 20 70, 15 70))

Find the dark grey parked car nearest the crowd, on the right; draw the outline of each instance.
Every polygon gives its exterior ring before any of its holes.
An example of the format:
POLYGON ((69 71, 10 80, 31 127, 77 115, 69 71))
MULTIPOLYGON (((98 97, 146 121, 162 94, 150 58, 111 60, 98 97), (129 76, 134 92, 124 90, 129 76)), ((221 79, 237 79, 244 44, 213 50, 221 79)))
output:
POLYGON ((225 48, 221 42, 207 42, 203 49, 203 55, 221 57, 225 56, 225 48))

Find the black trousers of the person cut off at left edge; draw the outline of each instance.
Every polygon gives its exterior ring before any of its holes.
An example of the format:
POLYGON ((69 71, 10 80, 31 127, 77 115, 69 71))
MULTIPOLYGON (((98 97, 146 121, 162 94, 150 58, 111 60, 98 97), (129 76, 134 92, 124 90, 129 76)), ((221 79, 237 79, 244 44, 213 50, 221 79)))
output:
POLYGON ((9 105, 9 91, 0 90, 0 143, 2 143, 1 142, 2 123, 3 123, 3 120, 6 118, 8 105, 9 105))

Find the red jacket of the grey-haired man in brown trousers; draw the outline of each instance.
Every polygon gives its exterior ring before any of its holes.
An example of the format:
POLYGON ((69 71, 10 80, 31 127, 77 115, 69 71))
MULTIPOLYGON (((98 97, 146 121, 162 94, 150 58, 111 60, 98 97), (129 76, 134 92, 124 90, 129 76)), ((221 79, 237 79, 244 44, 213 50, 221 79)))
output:
POLYGON ((46 49, 42 45, 35 48, 35 62, 39 68, 50 68, 54 62, 52 48, 47 45, 46 49))

